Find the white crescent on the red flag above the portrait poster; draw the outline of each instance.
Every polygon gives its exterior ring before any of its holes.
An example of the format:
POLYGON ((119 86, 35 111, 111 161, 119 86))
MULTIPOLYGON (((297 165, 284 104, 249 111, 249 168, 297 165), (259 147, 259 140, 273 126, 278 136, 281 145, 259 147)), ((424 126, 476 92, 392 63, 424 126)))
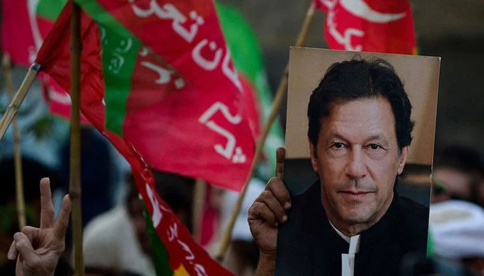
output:
POLYGON ((339 3, 351 14, 362 17, 370 22, 387 23, 405 17, 405 12, 397 14, 377 12, 370 8, 363 0, 341 0, 339 3))

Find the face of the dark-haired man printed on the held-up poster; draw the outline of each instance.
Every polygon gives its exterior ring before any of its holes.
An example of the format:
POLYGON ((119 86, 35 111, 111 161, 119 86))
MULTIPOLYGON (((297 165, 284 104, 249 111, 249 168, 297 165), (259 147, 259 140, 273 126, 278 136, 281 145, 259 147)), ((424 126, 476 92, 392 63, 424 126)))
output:
POLYGON ((322 117, 311 163, 321 180, 328 219, 346 235, 373 226, 393 199, 407 158, 398 149, 395 118, 383 97, 331 103, 322 117))

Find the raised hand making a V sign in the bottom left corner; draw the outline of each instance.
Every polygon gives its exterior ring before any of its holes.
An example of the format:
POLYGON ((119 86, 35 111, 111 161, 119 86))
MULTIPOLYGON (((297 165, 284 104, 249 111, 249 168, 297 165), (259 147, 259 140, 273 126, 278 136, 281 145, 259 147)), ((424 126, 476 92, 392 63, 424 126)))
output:
POLYGON ((8 259, 17 259, 17 276, 51 276, 59 257, 64 252, 66 229, 71 213, 68 195, 62 200, 61 210, 55 220, 50 181, 40 180, 40 228, 25 226, 15 233, 8 250, 8 259))

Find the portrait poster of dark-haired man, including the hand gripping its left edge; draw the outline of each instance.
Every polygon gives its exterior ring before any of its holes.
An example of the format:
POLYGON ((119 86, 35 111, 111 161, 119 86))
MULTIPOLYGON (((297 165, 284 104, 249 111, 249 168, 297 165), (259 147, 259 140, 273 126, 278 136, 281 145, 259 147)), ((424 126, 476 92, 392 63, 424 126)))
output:
POLYGON ((400 275, 425 256, 439 66, 291 48, 286 150, 249 211, 258 275, 400 275), (427 175, 409 194, 406 164, 427 175))

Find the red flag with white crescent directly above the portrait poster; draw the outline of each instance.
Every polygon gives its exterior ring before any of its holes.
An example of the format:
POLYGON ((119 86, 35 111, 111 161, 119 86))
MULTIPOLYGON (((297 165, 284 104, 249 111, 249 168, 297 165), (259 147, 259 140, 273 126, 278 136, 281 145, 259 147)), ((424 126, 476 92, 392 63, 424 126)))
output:
POLYGON ((408 0, 315 0, 331 49, 416 55, 408 0))

